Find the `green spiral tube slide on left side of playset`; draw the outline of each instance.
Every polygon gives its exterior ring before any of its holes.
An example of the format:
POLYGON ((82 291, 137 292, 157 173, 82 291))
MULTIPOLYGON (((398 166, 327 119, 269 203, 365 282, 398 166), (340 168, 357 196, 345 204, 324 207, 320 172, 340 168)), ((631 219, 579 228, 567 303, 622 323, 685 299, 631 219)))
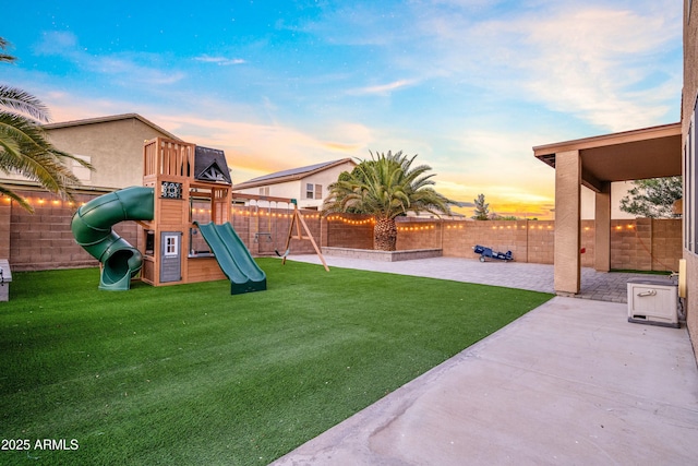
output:
POLYGON ((154 199, 153 188, 125 188, 93 199, 73 215, 75 241, 103 264, 99 289, 130 288, 131 278, 143 266, 143 255, 111 227, 125 220, 152 220, 154 199))

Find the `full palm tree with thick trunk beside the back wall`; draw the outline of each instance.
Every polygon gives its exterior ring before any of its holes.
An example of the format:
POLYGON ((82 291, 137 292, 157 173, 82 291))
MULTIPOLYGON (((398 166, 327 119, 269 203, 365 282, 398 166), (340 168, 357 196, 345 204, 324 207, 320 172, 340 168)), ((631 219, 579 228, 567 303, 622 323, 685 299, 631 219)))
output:
POLYGON ((395 251, 397 227, 395 218, 408 212, 430 212, 435 215, 450 214, 453 201, 434 191, 425 175, 431 167, 420 165, 412 168, 417 155, 407 157, 402 151, 392 154, 371 154, 349 174, 344 172, 337 182, 329 184, 323 211, 351 212, 372 215, 373 248, 395 251))

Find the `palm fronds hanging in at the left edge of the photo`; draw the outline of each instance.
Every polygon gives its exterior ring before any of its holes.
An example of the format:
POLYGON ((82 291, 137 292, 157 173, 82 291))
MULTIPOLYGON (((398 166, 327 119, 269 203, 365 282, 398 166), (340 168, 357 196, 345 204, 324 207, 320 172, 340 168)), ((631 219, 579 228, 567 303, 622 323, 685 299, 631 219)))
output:
MULTIPOLYGON (((0 37, 0 50, 9 43, 0 37)), ((13 56, 0 52, 0 62, 12 63, 13 56)), ((0 171, 20 174, 38 182, 49 192, 72 199, 70 188, 80 184, 63 160, 76 160, 82 166, 92 166, 65 152, 59 151, 48 141, 43 123, 50 121, 46 106, 33 95, 0 84, 0 171)), ((0 194, 15 200, 22 207, 33 212, 24 198, 0 184, 0 194)))

